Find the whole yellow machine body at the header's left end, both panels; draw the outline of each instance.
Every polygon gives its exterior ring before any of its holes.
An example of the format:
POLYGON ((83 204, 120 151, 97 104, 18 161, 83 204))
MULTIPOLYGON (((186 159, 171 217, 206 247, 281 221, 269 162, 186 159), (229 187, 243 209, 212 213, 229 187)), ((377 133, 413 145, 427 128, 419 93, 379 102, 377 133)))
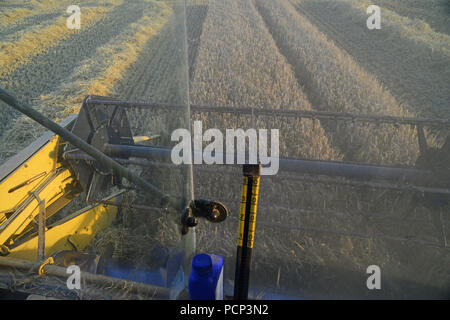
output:
MULTIPOLYGON (((70 128, 76 116, 61 124, 70 128)), ((65 141, 46 133, 0 167, 0 246, 4 255, 29 261, 38 257, 37 217, 48 219, 81 193, 77 176, 62 160, 65 141), (42 204, 44 206, 42 206, 42 204)), ((104 200, 119 202, 122 191, 104 200)), ((82 251, 116 217, 112 205, 88 206, 45 228, 45 256, 82 251)))

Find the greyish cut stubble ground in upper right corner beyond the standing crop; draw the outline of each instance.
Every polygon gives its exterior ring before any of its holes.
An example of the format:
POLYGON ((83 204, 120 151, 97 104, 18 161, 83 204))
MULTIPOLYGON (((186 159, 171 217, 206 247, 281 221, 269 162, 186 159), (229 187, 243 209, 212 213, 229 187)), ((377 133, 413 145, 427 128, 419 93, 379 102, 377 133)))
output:
POLYGON ((368 30, 366 1, 291 2, 373 73, 405 108, 424 117, 450 116, 449 35, 385 7, 381 11, 381 30, 368 30))

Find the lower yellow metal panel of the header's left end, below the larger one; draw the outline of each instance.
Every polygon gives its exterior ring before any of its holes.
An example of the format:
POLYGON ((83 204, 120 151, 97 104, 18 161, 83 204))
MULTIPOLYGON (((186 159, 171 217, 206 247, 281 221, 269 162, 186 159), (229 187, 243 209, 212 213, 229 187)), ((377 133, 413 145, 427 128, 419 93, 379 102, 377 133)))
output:
MULTIPOLYGON (((119 202, 123 191, 103 200, 119 202)), ((60 250, 83 251, 102 230, 116 218, 117 206, 100 204, 81 209, 57 223, 45 232, 46 257, 60 250)), ((38 237, 20 244, 10 250, 8 257, 37 261, 38 237)))

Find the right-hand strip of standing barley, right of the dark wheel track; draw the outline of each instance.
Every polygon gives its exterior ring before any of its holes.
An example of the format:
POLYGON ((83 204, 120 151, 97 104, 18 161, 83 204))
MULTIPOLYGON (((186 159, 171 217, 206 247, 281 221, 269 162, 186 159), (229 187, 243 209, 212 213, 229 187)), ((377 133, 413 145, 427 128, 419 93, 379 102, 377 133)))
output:
MULTIPOLYGON (((294 67, 318 110, 412 116, 381 84, 285 0, 255 4, 280 51, 294 67)), ((324 124, 349 161, 413 165, 418 156, 415 131, 393 126, 324 124)))

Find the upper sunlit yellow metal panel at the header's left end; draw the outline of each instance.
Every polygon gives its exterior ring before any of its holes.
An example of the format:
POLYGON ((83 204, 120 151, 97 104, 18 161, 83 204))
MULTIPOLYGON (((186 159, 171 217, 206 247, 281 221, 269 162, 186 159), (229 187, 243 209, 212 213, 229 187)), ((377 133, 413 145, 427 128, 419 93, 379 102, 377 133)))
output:
POLYGON ((49 209, 49 218, 80 191, 75 175, 60 161, 62 139, 55 134, 43 137, 32 144, 28 154, 19 155, 18 163, 2 166, 11 171, 0 177, 0 245, 11 246, 31 229, 39 213, 38 197, 49 209))

